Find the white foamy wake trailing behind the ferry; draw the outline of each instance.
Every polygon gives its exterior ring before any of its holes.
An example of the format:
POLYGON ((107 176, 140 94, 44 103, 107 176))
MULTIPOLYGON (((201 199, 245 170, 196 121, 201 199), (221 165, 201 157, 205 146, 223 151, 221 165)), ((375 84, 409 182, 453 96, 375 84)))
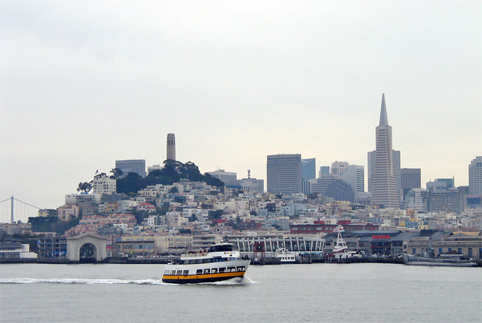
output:
POLYGON ((0 278, 0 284, 137 284, 167 285, 162 280, 124 280, 124 279, 79 279, 79 278, 0 278))

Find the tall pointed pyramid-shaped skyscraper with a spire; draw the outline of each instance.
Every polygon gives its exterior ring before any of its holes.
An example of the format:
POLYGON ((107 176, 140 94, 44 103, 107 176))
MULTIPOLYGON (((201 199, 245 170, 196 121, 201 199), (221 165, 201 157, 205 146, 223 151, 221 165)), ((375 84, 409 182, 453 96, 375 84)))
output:
POLYGON ((380 121, 375 128, 376 149, 371 203, 385 208, 399 208, 400 194, 392 149, 392 127, 388 125, 385 94, 381 96, 380 121))

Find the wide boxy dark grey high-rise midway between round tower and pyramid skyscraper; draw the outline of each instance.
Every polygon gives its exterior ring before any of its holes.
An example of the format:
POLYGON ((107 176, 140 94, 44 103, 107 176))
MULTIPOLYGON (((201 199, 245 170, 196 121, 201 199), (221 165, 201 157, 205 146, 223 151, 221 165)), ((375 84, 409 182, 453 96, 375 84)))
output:
POLYGON ((266 162, 267 190, 275 194, 302 192, 302 161, 300 154, 268 155, 266 162))

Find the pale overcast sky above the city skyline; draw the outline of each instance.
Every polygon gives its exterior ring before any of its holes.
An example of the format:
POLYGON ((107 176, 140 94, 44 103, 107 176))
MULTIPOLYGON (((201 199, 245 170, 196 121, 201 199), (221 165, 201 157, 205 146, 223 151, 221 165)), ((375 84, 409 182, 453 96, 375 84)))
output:
POLYGON ((278 153, 366 172, 382 93, 401 167, 421 168, 423 187, 468 185, 482 155, 481 1, 0 9, 0 200, 56 208, 116 159, 162 164, 167 133, 201 172, 266 179, 278 153))

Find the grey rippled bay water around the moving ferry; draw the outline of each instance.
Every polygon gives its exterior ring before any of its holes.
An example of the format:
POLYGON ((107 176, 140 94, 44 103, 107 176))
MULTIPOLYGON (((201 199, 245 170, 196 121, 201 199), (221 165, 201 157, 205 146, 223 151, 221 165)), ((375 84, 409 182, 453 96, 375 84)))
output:
POLYGON ((163 265, 0 265, 1 322, 482 322, 482 269, 251 266, 171 285, 163 265))

